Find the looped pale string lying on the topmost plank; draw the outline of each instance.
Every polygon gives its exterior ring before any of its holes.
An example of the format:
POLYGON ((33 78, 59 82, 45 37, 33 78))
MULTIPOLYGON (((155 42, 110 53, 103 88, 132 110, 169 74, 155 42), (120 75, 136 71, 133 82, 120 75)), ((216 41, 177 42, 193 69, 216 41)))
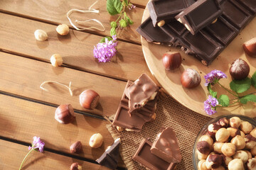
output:
POLYGON ((89 30, 89 29, 96 29, 96 30, 100 30, 100 31, 105 31, 105 27, 102 25, 102 23, 100 21, 98 21, 97 19, 88 19, 88 20, 85 20, 85 21, 78 21, 78 20, 75 20, 75 23, 78 23, 80 25, 86 23, 86 22, 89 22, 89 21, 95 21, 96 23, 99 23, 100 26, 102 26, 102 28, 97 28, 97 27, 89 27, 89 28, 78 28, 77 26, 75 26, 75 24, 73 24, 73 22, 71 21, 70 19, 70 15, 71 13, 73 12, 80 12, 80 13, 100 13, 99 10, 97 9, 94 9, 92 8, 92 6, 94 6, 95 4, 97 4, 97 1, 95 1, 95 3, 93 3, 88 10, 79 10, 79 9, 70 9, 70 11, 68 11, 67 13, 67 17, 68 17, 68 21, 70 21, 70 24, 71 26, 73 26, 76 30, 89 30))

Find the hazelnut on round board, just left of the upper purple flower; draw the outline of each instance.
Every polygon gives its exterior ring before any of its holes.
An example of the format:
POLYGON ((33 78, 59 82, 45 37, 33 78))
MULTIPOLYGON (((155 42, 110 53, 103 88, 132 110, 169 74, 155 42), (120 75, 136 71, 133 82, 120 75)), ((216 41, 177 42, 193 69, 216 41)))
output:
POLYGON ((181 84, 182 86, 190 89, 198 86, 201 83, 201 77, 196 71, 196 69, 186 69, 181 74, 181 84))

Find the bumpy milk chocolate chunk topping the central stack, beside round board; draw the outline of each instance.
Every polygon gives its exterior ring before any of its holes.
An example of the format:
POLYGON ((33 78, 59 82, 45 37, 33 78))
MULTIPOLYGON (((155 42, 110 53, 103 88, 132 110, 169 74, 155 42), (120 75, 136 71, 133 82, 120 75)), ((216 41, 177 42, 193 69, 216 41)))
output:
POLYGON ((146 74, 142 74, 124 93, 129 98, 129 113, 144 107, 148 101, 154 100, 159 87, 146 74))

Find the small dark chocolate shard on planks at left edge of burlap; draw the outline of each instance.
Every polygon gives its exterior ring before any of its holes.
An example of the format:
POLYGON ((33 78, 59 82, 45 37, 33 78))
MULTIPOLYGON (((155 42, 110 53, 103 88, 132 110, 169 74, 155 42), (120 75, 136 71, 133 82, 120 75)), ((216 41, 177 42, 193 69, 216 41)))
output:
POLYGON ((109 169, 116 169, 119 159, 119 145, 120 138, 114 140, 114 144, 107 149, 99 159, 96 160, 102 166, 106 166, 109 169))

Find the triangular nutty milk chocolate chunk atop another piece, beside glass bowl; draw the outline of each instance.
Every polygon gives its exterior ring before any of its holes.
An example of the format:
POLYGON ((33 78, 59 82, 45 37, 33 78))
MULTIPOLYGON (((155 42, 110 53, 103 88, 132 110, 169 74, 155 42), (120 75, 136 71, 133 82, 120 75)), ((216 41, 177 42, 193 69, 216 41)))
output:
POLYGON ((164 159, 166 162, 181 162, 181 151, 174 130, 166 128, 159 135, 150 149, 151 153, 164 159))

